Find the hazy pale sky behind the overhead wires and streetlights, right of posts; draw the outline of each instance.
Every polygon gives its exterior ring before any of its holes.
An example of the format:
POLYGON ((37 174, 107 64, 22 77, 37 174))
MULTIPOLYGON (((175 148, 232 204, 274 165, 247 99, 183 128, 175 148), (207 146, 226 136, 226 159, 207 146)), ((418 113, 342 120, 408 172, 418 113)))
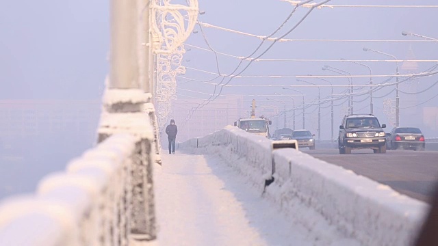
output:
MULTIPOLYGON (((433 5, 434 1, 331 1, 328 4, 333 5, 433 5)), ((292 5, 285 1, 209 1, 201 2, 201 9, 205 10, 205 14, 200 16, 200 21, 203 23, 209 23, 211 25, 217 25, 236 31, 242 31, 259 36, 267 36, 283 23, 283 20, 292 11, 292 5)), ((291 29, 298 20, 304 16, 308 11, 307 8, 300 8, 289 22, 274 35, 279 37, 286 31, 291 29)), ((379 55, 371 51, 363 51, 363 47, 382 51, 396 56, 398 59, 437 59, 437 42, 423 42, 421 38, 415 38, 410 36, 402 36, 402 31, 410 31, 412 33, 422 34, 424 36, 430 36, 438 38, 438 31, 433 27, 433 23, 437 21, 436 16, 437 8, 323 8, 322 10, 313 10, 309 16, 285 38, 289 39, 320 39, 320 40, 400 40, 413 42, 277 42, 263 55, 264 59, 380 59, 387 60, 392 59, 385 55, 379 55), (415 57, 409 57, 409 52, 412 52, 415 57)), ((232 33, 230 31, 222 31, 218 29, 212 29, 204 27, 203 31, 205 36, 202 35, 200 27, 196 27, 198 33, 192 34, 187 40, 187 44, 194 46, 201 46, 203 49, 209 49, 205 42, 205 38, 208 40, 211 48, 218 53, 227 53, 238 57, 246 57, 253 53, 257 46, 261 43, 258 38, 246 36, 240 33, 232 33)), ((272 42, 265 42, 261 49, 255 53, 252 57, 256 57, 261 52, 268 49, 268 46, 272 42)), ((217 73, 219 66, 222 74, 230 74, 240 59, 235 57, 229 57, 226 55, 218 55, 218 64, 214 53, 195 49, 190 46, 186 46, 186 49, 191 50, 185 54, 184 66, 187 66, 187 72, 183 77, 195 79, 195 80, 209 80, 216 77, 215 74, 209 74, 208 72, 217 73), (192 68, 205 70, 208 72, 201 72, 199 70, 193 70, 192 68)), ((363 62, 372 68, 373 74, 395 74, 396 63, 394 62, 363 62)), ((244 61, 243 66, 240 67, 241 71, 244 66, 248 64, 248 61, 244 61)), ((415 71, 402 70, 402 63, 400 66, 400 74, 410 74, 413 72, 423 72, 424 70, 435 66, 436 61, 417 63, 418 69, 415 71)), ((369 74, 367 68, 352 64, 348 62, 340 61, 256 61, 251 64, 248 69, 244 70, 241 75, 338 75, 333 72, 323 71, 324 65, 333 66, 346 70, 351 74, 369 74)), ((425 77, 418 79, 414 83, 403 83, 400 85, 400 91, 404 92, 417 92, 424 90, 426 87, 432 85, 437 81, 436 76, 425 77)), ((382 83, 387 78, 374 78, 374 83, 382 83)), ((305 79, 309 82, 318 83, 318 85, 328 85, 326 82, 318 81, 318 79, 305 79)), ((348 80, 344 79, 330 79, 334 85, 347 85, 348 80)), ((369 83, 369 78, 355 78, 354 84, 365 85, 369 83)), ((400 79, 401 80, 401 79, 400 79)), ((178 81, 178 99, 176 105, 180 103, 186 107, 197 107, 196 103, 188 103, 185 100, 196 101, 198 104, 204 102, 209 98, 209 94, 213 94, 214 86, 198 81, 190 81, 185 83, 188 79, 180 79, 178 81), (190 92, 196 91, 196 92, 190 92), (199 93, 201 92, 201 93, 199 93), (194 99, 202 98, 202 99, 194 99)), ((221 79, 215 79, 212 83, 220 83, 221 79)), ((274 100, 288 101, 291 106, 292 101, 286 96, 278 96, 276 94, 298 94, 289 90, 282 90, 281 86, 271 87, 257 87, 258 85, 306 85, 305 83, 297 82, 294 77, 283 78, 267 78, 267 77, 242 77, 234 78, 231 81, 224 79, 223 83, 229 82, 229 87, 224 87, 221 95, 227 94, 264 94, 270 96, 244 96, 244 109, 249 111, 250 100, 257 100, 257 115, 262 113, 270 114, 273 111, 283 110, 283 105, 274 100), (246 85, 243 87, 242 85, 246 85), (271 100, 266 100, 266 98, 271 100)), ((392 79, 389 82, 395 82, 392 79)), ((438 136, 435 129, 425 126, 423 124, 423 107, 435 107, 438 102, 438 98, 433 100, 426 100, 436 96, 435 87, 419 94, 417 96, 406 96, 400 92, 400 125, 411 125, 421 127, 427 136, 438 136), (408 103, 407 100, 410 100, 408 103), (420 105, 421 104, 421 105, 420 105), (403 109, 404 107, 411 107, 413 105, 419 105, 409 109, 403 109)), ((305 94, 306 100, 315 99, 318 96, 318 89, 316 87, 295 87, 296 90, 300 90, 305 94)), ((337 87, 334 90, 335 94, 341 93, 346 88, 337 87)), ((394 86, 387 87, 379 92, 375 92, 374 96, 374 114, 378 116, 382 124, 388 124, 387 115, 383 113, 383 99, 391 98, 395 100, 395 92, 392 92, 388 96, 391 90, 394 90, 394 86), (378 98, 380 97, 380 98, 378 98)), ((363 90, 362 90, 363 91, 363 90)), ((329 96, 329 87, 321 87, 322 98, 329 96)), ((216 91, 217 95, 217 91, 216 91)), ((221 97, 219 97, 221 98, 221 97)), ((300 102, 300 96, 295 97, 296 103, 300 102)), ((355 100, 363 100, 363 102, 355 102, 355 113, 369 113, 370 112, 370 100, 365 96, 357 97, 355 100)), ((339 104, 342 101, 335 102, 339 104)), ((395 105, 395 103, 394 103, 395 105)), ((329 139, 330 137, 330 108, 329 104, 325 104, 326 109, 322 109, 322 139, 329 139), (327 108, 328 107, 328 108, 327 108)), ((346 107, 340 105, 335 107, 335 134, 337 134, 336 126, 339 125, 342 120, 341 108, 346 107)), ((206 109, 207 107, 203 107, 206 109)), ((181 108, 177 108, 180 110, 181 108)), ((185 117, 179 115, 179 111, 175 110, 172 117, 185 121, 185 117)), ((306 109, 306 128, 309 128, 315 133, 317 131, 317 109, 311 107, 306 109)), ((296 112, 298 113, 298 111, 296 112)), ((288 120, 291 121, 292 113, 288 114, 288 120)), ((296 125, 301 126, 302 116, 296 116, 296 125)), ((237 119, 236 119, 237 120, 237 119)), ((276 121, 279 121, 279 126, 283 126, 283 115, 279 118, 272 118, 273 128, 276 128, 276 121)), ((196 120, 189 120, 188 124, 194 124, 196 120)), ((177 122, 178 124, 178 122, 177 122)), ((232 122, 230 122, 232 124, 232 122)), ((391 130, 391 126, 387 128, 387 131, 391 130)))

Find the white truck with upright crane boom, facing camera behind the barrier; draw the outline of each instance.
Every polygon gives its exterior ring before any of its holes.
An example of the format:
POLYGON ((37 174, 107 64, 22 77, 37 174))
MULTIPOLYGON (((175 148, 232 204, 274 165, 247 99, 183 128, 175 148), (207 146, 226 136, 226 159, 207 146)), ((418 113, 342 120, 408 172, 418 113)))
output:
POLYGON ((234 122, 234 126, 256 135, 261 135, 266 138, 270 138, 269 125, 272 124, 271 120, 261 115, 259 118, 255 117, 255 100, 253 100, 250 118, 240 118, 234 122))

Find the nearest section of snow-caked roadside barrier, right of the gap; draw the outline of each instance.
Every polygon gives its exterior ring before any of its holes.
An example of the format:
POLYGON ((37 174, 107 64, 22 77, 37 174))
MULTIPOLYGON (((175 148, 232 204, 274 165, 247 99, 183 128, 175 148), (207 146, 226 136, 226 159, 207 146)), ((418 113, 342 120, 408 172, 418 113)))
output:
POLYGON ((268 193, 288 213, 305 204, 363 245, 412 245, 428 210, 424 202, 296 150, 273 156, 276 180, 268 193))

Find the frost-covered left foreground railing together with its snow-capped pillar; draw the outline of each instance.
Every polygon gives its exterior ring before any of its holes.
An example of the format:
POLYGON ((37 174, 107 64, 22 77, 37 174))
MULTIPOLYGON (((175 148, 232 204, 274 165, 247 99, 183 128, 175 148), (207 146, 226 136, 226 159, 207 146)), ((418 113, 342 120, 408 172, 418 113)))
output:
MULTIPOLYGON (((99 144, 0 202, 0 245, 129 245, 155 240, 153 119, 140 90, 108 90, 99 144)), ((152 108, 153 109, 153 108, 152 108)))

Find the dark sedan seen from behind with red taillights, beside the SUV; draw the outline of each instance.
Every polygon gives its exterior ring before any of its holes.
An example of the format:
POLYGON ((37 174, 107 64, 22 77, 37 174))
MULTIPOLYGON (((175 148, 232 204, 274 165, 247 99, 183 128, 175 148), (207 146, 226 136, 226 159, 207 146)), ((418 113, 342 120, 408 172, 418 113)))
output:
POLYGON ((424 135, 416 127, 396 127, 387 133, 388 150, 424 150, 424 135))

